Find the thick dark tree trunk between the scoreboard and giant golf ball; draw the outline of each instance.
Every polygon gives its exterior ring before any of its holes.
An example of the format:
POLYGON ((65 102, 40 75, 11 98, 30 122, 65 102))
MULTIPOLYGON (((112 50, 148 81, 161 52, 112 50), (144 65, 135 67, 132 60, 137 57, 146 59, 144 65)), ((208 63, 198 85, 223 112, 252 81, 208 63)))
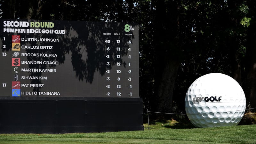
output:
POLYGON ((158 0, 156 3, 155 96, 158 112, 172 111, 173 89, 180 66, 178 11, 176 2, 158 0))

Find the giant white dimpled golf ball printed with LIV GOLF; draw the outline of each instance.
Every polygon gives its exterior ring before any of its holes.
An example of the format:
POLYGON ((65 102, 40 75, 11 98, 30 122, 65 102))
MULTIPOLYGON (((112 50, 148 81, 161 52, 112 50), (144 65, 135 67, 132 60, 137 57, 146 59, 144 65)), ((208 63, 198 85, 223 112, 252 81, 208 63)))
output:
POLYGON ((185 98, 187 116, 196 127, 237 125, 245 107, 242 87, 232 77, 220 73, 196 79, 185 98))

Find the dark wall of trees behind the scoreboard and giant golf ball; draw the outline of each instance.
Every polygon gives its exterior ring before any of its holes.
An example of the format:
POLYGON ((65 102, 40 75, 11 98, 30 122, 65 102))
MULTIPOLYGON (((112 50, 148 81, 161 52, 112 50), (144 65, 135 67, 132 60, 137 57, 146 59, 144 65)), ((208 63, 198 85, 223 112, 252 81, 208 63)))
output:
MULTIPOLYGON (((255 7, 256 2, 248 0, 2 0, 0 16, 21 19, 27 17, 31 9, 31 19, 139 23, 140 97, 144 108, 156 110, 172 98, 163 105, 170 108, 174 101, 175 106, 183 110, 187 88, 207 73, 238 76, 236 80, 244 91, 251 92, 244 84, 250 69, 248 62, 255 57, 246 53, 255 48, 248 41, 255 41, 253 35, 248 36, 255 33, 255 7), (170 61, 179 65, 164 71, 172 64, 168 64, 170 61), (176 68, 178 72, 173 70, 176 68), (173 76, 166 80, 164 73, 173 76), (171 84, 164 84, 170 79, 171 84), (164 95, 166 100, 159 99, 164 95)), ((161 112, 166 110, 163 108, 161 112)))

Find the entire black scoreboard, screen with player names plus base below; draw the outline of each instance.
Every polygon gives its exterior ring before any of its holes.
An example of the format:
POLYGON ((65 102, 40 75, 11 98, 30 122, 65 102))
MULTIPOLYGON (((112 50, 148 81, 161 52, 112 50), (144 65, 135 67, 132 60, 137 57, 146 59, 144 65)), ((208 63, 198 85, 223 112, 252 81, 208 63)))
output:
POLYGON ((0 19, 0 133, 144 130, 136 23, 0 19))

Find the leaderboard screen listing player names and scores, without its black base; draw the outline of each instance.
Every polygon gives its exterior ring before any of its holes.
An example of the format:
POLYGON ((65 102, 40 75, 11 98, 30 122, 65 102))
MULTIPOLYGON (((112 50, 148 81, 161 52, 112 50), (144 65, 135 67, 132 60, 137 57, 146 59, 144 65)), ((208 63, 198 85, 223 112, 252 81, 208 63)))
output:
POLYGON ((0 99, 139 97, 136 23, 0 19, 0 99))

